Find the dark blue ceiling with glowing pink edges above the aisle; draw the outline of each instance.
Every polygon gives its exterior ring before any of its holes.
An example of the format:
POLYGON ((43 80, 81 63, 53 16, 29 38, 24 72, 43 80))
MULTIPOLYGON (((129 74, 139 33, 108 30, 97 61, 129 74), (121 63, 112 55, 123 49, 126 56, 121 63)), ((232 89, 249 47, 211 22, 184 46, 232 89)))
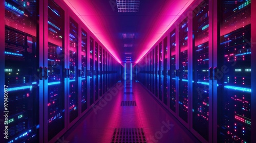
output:
POLYGON ((64 1, 121 63, 126 62, 125 57, 137 62, 193 2, 140 0, 139 12, 124 13, 118 12, 116 0, 64 1), (123 39, 123 33, 134 33, 135 37, 123 39))

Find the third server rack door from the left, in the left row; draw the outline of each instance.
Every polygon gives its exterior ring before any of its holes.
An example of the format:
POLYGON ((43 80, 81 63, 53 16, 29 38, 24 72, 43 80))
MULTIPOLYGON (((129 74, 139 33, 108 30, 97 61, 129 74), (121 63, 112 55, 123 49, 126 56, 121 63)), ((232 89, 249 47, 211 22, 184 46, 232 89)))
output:
POLYGON ((72 123, 78 112, 78 23, 69 17, 68 46, 68 123, 72 123))

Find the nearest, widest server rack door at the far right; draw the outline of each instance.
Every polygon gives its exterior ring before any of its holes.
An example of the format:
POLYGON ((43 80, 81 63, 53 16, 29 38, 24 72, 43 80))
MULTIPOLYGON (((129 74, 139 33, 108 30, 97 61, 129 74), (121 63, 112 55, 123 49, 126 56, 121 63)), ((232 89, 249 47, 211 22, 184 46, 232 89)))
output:
POLYGON ((251 1, 218 2, 218 142, 251 142, 251 1))

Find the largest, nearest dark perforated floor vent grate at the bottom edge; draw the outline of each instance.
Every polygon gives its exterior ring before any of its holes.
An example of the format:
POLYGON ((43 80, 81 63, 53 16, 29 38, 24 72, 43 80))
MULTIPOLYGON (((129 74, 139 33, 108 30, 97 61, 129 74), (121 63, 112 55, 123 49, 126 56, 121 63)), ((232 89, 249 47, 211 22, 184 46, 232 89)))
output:
POLYGON ((146 143, 146 137, 142 128, 115 128, 111 143, 132 142, 146 143))

